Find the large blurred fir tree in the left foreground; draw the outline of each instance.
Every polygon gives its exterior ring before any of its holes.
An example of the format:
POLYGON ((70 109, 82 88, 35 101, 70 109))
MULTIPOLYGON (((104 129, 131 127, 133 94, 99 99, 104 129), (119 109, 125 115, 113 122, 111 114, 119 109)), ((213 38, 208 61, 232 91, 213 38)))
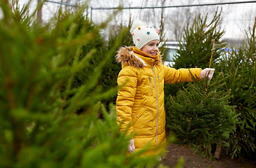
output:
POLYGON ((33 16, 23 19, 27 7, 13 15, 7 1, 0 3, 0 167, 155 165, 155 157, 126 155, 129 137, 118 132, 115 107, 107 111, 100 102, 117 92, 97 89, 111 51, 82 85, 73 87, 98 49, 83 52, 97 34, 86 31, 89 22, 77 24, 82 8, 66 18, 59 10, 54 22, 38 26, 33 16), (84 106, 86 111, 77 115, 84 106), (96 117, 99 110, 103 120, 96 117))

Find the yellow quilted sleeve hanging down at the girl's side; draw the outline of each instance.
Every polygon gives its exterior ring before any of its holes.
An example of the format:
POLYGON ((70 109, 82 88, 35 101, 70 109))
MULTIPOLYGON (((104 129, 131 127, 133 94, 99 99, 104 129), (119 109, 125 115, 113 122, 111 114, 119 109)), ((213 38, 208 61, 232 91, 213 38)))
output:
POLYGON ((131 66, 126 66, 120 71, 117 84, 119 86, 116 102, 117 125, 120 125, 120 131, 127 130, 127 134, 131 134, 132 106, 137 86, 137 74, 131 66))

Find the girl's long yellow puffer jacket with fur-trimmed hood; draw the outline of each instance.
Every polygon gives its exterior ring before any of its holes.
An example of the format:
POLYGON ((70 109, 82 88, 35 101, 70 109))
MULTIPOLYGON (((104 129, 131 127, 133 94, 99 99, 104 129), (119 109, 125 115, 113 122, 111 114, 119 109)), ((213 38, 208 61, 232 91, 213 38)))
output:
POLYGON ((164 66, 160 54, 147 55, 136 47, 117 51, 122 63, 117 84, 116 113, 120 131, 133 134, 135 151, 150 143, 147 155, 160 153, 166 146, 164 83, 191 82, 191 73, 200 78, 202 69, 173 69, 164 66))

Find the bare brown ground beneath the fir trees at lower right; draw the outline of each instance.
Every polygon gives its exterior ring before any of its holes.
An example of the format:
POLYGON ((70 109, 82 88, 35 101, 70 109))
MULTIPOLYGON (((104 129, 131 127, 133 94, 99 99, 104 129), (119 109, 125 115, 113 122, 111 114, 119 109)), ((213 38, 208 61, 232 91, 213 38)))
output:
POLYGON ((162 159, 162 165, 169 168, 176 167, 179 158, 184 158, 184 168, 202 167, 202 168, 255 168, 256 160, 240 160, 239 158, 231 159, 229 155, 221 153, 219 160, 210 161, 208 158, 203 158, 196 155, 188 147, 172 144, 167 146, 167 154, 162 159))

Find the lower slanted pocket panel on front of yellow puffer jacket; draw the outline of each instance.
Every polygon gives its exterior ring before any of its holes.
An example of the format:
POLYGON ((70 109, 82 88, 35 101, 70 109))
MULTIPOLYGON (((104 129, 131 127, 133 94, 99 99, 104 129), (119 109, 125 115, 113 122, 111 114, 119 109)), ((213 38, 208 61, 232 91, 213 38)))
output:
POLYGON ((141 106, 132 118, 134 134, 137 136, 153 134, 153 112, 141 106))

